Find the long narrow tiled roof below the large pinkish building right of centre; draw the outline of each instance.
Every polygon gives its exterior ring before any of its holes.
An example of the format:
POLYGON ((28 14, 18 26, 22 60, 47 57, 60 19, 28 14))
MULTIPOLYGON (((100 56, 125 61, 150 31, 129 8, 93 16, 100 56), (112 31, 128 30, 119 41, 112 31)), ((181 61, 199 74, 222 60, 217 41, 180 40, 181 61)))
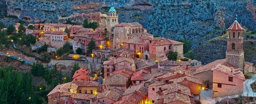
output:
POLYGON ((167 66, 186 66, 189 65, 189 61, 160 61, 158 64, 167 66))

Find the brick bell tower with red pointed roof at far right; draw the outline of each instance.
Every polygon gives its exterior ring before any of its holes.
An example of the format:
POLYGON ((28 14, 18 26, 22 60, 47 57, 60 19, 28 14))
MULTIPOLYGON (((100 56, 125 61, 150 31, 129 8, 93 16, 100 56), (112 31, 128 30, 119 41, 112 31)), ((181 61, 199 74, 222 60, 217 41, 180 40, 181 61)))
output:
POLYGON ((229 64, 240 68, 244 73, 243 27, 237 21, 228 28, 226 60, 229 64))

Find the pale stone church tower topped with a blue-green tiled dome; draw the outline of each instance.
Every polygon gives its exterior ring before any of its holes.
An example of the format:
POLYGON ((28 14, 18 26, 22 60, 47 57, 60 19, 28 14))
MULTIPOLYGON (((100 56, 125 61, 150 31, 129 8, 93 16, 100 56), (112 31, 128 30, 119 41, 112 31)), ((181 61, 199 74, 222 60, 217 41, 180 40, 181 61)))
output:
POLYGON ((108 10, 108 17, 107 17, 107 29, 108 29, 108 39, 110 42, 108 44, 112 44, 113 41, 113 27, 119 24, 118 22, 118 15, 116 14, 115 8, 112 6, 108 10))

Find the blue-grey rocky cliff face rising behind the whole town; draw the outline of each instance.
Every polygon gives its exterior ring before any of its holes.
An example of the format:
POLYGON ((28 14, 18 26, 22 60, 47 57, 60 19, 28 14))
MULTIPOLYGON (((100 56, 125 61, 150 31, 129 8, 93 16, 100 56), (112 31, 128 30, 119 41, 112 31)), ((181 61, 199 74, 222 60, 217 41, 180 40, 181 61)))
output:
MULTIPOLYGON (((106 13, 108 8, 113 5, 119 13, 119 22, 139 22, 152 34, 169 39, 188 39, 194 50, 207 40, 221 36, 233 22, 236 13, 239 22, 246 29, 254 30, 256 28, 255 0, 1 1, 5 2, 4 6, 7 8, 1 11, 7 11, 8 15, 15 15, 20 20, 31 23, 65 22, 63 20, 66 19, 65 17, 73 15, 91 12, 106 13)), ((0 5, 2 4, 0 3, 0 5)), ((75 22, 82 22, 81 17, 71 19, 75 22)), ((213 60, 215 59, 213 58, 213 60)))

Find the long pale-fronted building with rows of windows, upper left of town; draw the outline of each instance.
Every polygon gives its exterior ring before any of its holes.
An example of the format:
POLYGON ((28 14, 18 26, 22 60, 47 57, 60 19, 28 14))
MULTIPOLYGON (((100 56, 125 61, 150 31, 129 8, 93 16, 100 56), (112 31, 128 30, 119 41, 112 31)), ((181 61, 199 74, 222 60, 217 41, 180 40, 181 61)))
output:
POLYGON ((43 41, 56 48, 61 48, 67 42, 67 33, 62 31, 47 31, 43 41))

